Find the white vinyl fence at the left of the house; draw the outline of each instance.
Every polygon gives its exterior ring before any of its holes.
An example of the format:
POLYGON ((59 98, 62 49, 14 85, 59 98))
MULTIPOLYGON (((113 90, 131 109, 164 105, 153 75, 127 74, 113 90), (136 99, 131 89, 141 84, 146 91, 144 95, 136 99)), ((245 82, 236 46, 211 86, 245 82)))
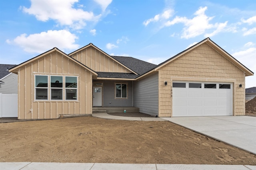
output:
POLYGON ((18 117, 18 94, 0 93, 0 117, 18 117))

